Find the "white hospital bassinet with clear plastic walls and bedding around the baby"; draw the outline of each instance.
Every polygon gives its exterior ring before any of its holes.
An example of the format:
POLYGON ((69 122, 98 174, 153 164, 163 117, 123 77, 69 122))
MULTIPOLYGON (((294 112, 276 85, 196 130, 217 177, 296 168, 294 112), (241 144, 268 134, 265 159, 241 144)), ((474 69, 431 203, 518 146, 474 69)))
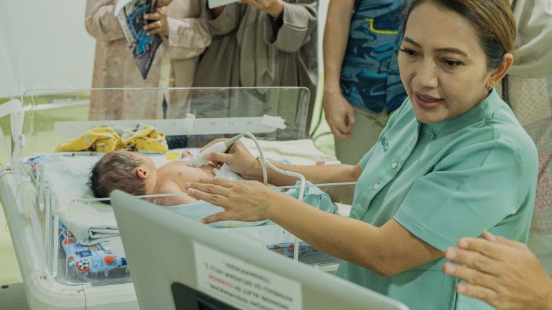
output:
MULTIPOLYGON (((113 132, 119 134, 125 133, 117 130, 132 129, 147 136, 152 126, 166 136, 168 145, 159 135, 153 135, 142 147, 135 143, 130 146, 148 154, 159 167, 170 161, 185 161, 183 153, 194 154, 214 138, 251 132, 257 136, 264 155, 275 161, 295 165, 337 163, 307 140, 308 99, 308 90, 302 87, 98 89, 32 90, 20 100, 6 103, 0 116, 9 115, 10 126, 2 128, 0 148, 6 149, 10 160, 0 165, 0 202, 30 307, 138 309, 132 271, 112 208, 95 199, 86 184, 91 167, 104 153, 55 152, 58 145, 76 141, 85 132, 89 134, 80 142, 90 143, 96 137, 95 130, 101 127, 113 127, 113 132)), ((7 124, 7 118, 2 118, 0 124, 7 124)), ((253 141, 242 141, 258 156, 253 141)), ((102 143, 96 146, 113 147, 102 143)), ((311 199, 315 204, 331 198, 326 201, 330 205, 326 211, 346 215, 347 207, 341 203, 348 201, 342 197, 352 197, 353 187, 309 188, 313 189, 311 199)), ((275 190, 293 194, 296 189, 290 186, 275 190)), ((293 254, 290 245, 294 236, 274 223, 226 223, 213 229, 248 234, 252 242, 263 242, 267 249, 286 256, 293 254)), ((158 255, 166 254, 152 253, 151 268, 155 269, 158 255)), ((330 271, 337 264, 335 258, 302 242, 299 261, 330 271)))

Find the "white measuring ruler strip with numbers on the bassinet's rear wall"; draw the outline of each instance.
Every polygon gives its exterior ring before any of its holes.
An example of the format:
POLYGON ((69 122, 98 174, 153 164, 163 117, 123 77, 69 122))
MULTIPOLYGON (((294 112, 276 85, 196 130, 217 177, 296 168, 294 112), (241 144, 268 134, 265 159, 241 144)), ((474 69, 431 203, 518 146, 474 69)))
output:
MULTIPOLYGON (((191 115, 191 114, 189 114, 191 115)), ((144 119, 120 121, 66 121, 54 124, 55 133, 61 138, 77 138, 88 130, 97 127, 136 128, 147 124, 167 136, 194 134, 241 134, 242 132, 268 133, 284 129, 284 118, 279 116, 227 117, 227 118, 187 118, 144 119)))

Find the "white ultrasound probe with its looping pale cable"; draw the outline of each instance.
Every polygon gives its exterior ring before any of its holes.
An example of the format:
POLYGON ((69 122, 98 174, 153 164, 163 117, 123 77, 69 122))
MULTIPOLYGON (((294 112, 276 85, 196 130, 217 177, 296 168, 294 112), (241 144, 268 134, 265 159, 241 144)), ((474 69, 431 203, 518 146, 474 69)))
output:
MULTIPOLYGON (((208 160, 205 159, 205 156, 207 154, 212 152, 226 152, 226 149, 228 149, 228 147, 231 147, 234 143, 236 143, 236 141, 238 141, 243 136, 248 136, 248 138, 251 138, 253 142, 255 142, 255 146, 259 151, 259 158, 261 159, 264 185, 268 184, 268 175, 266 173, 266 165, 268 165, 268 167, 273 169, 275 172, 284 174, 286 176, 295 176, 295 178, 299 178, 301 185, 299 186, 299 196, 297 196, 297 199, 299 199, 299 201, 303 201, 303 196, 305 192, 305 183, 306 183, 305 177, 302 174, 299 174, 297 172, 290 172, 287 170, 279 169, 269 161, 266 161, 264 158, 263 150, 261 149, 261 145, 259 145, 259 141, 257 141, 257 138, 255 138, 255 136, 250 132, 244 132, 242 134, 238 134, 237 136, 234 136, 233 138, 229 138, 226 141, 220 141, 213 145, 210 145, 210 147, 207 147, 203 151, 192 156, 192 158, 190 158, 190 160, 188 161, 188 166, 198 168, 198 167, 201 167, 202 165, 205 165, 205 163, 208 162, 208 160)), ((297 237, 295 237, 294 243, 295 245, 293 248, 293 260, 297 261, 299 260, 299 239, 297 237)))

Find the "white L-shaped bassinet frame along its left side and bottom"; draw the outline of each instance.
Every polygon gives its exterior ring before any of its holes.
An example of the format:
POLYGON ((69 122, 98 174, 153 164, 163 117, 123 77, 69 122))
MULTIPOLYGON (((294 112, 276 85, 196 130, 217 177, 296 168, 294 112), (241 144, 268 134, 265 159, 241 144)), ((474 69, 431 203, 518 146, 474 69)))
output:
MULTIPOLYGON (((22 181, 23 176, 18 170, 0 167, 0 203, 8 220, 17 218, 20 210, 29 210, 28 201, 18 199, 14 204, 16 194, 26 196, 17 193, 22 181)), ((46 258, 41 249, 45 241, 37 240, 31 225, 39 220, 33 220, 34 216, 37 216, 34 212, 26 214, 27 223, 8 223, 30 309, 139 309, 132 283, 104 286, 63 284, 60 281, 65 279, 66 268, 61 266, 56 278, 52 278, 46 271, 46 258)), ((62 259, 62 262, 66 260, 62 259)))

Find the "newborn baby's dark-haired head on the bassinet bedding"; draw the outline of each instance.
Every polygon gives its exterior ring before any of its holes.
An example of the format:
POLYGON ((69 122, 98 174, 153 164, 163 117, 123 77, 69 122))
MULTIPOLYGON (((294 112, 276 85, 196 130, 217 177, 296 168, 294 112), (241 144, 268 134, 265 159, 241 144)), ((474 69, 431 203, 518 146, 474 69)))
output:
POLYGON ((104 155, 92 167, 88 186, 97 198, 109 197, 114 189, 134 196, 146 195, 146 180, 155 185, 155 164, 148 156, 118 150, 104 155))

